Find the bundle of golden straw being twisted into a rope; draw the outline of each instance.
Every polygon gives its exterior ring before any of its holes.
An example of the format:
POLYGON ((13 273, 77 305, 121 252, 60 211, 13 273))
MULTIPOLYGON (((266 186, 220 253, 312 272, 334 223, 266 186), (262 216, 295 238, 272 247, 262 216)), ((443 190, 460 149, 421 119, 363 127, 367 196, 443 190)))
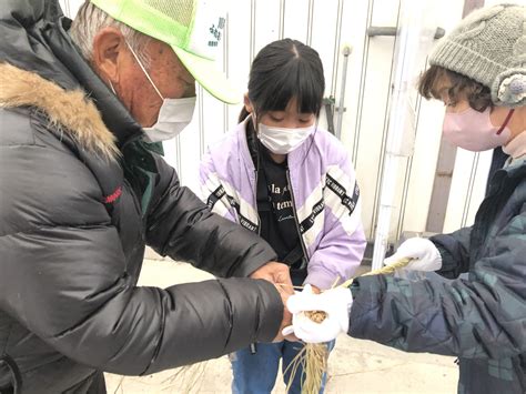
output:
MULTIPOLYGON (((394 264, 385 265, 380 270, 370 271, 364 273, 362 276, 368 275, 388 275, 393 274, 396 270, 406 266, 413 259, 403 259, 394 264)), ((354 277, 338 285, 338 287, 350 287, 353 284, 354 277)), ((334 286, 333 286, 334 289, 334 286)), ((327 314, 323 311, 308 311, 304 312, 312 321, 316 323, 323 322, 327 314)), ((302 351, 294 357, 287 370, 291 368, 291 378, 286 391, 291 388, 291 384, 294 381, 300 365, 303 365, 302 380, 305 377, 302 384, 302 393, 304 394, 317 394, 322 386, 323 374, 327 372, 327 360, 328 351, 324 343, 305 343, 302 351)))

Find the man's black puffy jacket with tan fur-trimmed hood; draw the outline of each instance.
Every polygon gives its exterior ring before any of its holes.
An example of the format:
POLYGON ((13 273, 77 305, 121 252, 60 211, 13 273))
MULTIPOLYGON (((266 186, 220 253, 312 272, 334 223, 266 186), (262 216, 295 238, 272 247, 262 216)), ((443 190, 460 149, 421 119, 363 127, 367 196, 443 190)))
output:
POLYGON ((83 392, 277 333, 264 281, 140 287, 144 245, 218 276, 275 257, 211 214, 77 52, 57 1, 0 4, 0 391, 83 392))

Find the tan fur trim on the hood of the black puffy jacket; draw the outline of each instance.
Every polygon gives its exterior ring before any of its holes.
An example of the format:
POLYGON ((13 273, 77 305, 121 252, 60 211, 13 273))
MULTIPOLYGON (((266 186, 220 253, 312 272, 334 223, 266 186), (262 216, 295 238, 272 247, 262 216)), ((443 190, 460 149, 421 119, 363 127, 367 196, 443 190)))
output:
POLYGON ((39 109, 88 151, 111 160, 120 155, 114 135, 82 90, 67 91, 34 72, 0 63, 0 108, 18 107, 39 109))

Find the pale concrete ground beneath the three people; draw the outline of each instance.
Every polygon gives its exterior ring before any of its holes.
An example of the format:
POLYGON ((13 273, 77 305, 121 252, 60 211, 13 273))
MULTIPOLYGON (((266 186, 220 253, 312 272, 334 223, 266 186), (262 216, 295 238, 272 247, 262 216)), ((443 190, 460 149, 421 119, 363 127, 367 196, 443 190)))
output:
MULTIPOLYGON (((146 260, 140 284, 165 287, 208 279, 212 276, 189 264, 146 260)), ((458 368, 454 360, 403 353, 342 335, 328 358, 330 377, 325 393, 455 393, 458 368)), ((231 381, 226 356, 145 377, 107 375, 108 393, 124 394, 230 393, 231 381)), ((284 388, 279 376, 273 393, 285 393, 284 388)))

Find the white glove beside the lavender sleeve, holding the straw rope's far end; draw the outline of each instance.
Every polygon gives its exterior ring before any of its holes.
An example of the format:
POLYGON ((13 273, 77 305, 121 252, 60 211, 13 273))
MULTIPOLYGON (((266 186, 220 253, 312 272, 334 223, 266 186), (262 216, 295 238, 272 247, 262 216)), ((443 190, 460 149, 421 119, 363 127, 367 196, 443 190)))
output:
POLYGON ((404 270, 436 271, 442 267, 441 252, 425 238, 411 238, 402 243, 395 254, 384 260, 384 265, 394 264, 403 259, 413 259, 404 270))

